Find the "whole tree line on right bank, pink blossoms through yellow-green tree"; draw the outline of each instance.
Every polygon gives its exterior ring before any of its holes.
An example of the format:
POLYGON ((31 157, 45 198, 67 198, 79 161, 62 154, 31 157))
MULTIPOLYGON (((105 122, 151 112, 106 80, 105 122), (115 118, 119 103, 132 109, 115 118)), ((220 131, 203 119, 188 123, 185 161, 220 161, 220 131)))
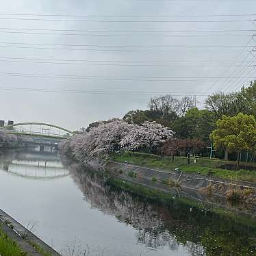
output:
MULTIPOLYGON (((123 118, 97 121, 77 131, 66 144, 78 158, 108 155, 113 151, 146 151, 170 155, 205 153, 214 142, 218 157, 256 153, 256 82, 240 92, 209 95, 205 107, 194 97, 171 94, 149 99, 146 110, 131 110, 123 118)), ((253 159, 251 159, 252 161, 253 159)))

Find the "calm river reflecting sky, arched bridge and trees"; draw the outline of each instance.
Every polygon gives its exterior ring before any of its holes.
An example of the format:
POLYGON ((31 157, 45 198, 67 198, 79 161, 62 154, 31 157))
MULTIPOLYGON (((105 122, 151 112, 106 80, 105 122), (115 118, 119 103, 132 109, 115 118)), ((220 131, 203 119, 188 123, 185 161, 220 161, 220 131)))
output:
POLYGON ((1 153, 0 208, 62 255, 256 255, 256 222, 124 192, 55 153, 1 153))

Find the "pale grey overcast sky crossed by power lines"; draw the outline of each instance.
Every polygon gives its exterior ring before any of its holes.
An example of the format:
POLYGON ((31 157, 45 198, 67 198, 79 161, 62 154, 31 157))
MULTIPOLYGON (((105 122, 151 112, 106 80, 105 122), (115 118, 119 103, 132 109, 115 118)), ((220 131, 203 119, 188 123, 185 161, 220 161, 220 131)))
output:
MULTIPOLYGON (((0 118, 3 120, 10 119, 16 123, 40 121, 60 125, 68 129, 78 129, 79 127, 86 127, 88 123, 94 120, 122 117, 129 110, 145 109, 149 97, 154 94, 153 92, 157 95, 172 92, 173 94, 179 94, 177 97, 185 94, 195 94, 198 95, 199 106, 202 106, 203 95, 220 89, 223 91, 239 90, 243 84, 234 81, 220 82, 220 80, 225 81, 224 78, 212 78, 207 80, 214 81, 205 81, 203 77, 231 77, 235 80, 233 77, 255 76, 253 67, 249 67, 253 65, 253 62, 251 62, 253 55, 249 52, 240 52, 240 50, 250 51, 252 47, 249 46, 255 44, 255 40, 250 38, 250 35, 255 34, 256 27, 248 21, 256 19, 256 15, 212 17, 191 17, 187 15, 253 14, 253 12, 256 13, 256 1, 10 0, 1 1, 0 12, 0 105, 2 110, 0 118), (68 16, 5 14, 64 14, 68 16), (92 16, 77 17, 70 15, 92 16), (166 17, 163 17, 165 15, 166 17), (181 17, 180 15, 184 16, 181 17), (45 19, 55 21, 45 21, 45 19), (60 19, 68 21, 56 21, 60 19), (88 22, 89 20, 94 20, 94 22, 88 22), (114 22, 96 22, 95 20, 114 22), (223 20, 232 22, 217 22, 223 20), (244 21, 234 22, 237 20, 244 21), (127 23, 124 21, 133 22, 127 23), (173 23, 162 21, 216 22, 173 23), (60 31, 45 29, 59 29, 60 31), (81 30, 94 30, 94 32, 81 30), (164 30, 164 32, 160 33, 161 30, 164 30), (207 30, 209 32, 170 32, 173 30, 207 30), (235 31, 219 32, 216 30, 235 31), (99 36, 99 34, 105 36, 99 36), (174 35, 179 36, 174 37, 174 35), (212 35, 226 36, 213 37, 212 35), (53 44, 65 44, 65 46, 53 44), (71 44, 83 45, 74 47, 71 44), (248 44, 247 47, 242 47, 246 44, 248 44), (94 47, 84 45, 94 45, 94 47), (103 45, 109 47, 102 47, 103 45), (127 47, 127 45, 133 47, 127 47), (222 47, 209 47, 211 45, 222 45, 222 47), (90 51, 86 49, 90 49, 90 51), (103 51, 110 49, 112 51, 103 51), (113 51, 118 49, 125 51, 113 51), (188 50, 196 51, 188 52, 188 50), (229 51, 216 52, 212 50, 229 51), (71 64, 74 63, 74 60, 100 62, 90 62, 90 64, 88 62, 75 62, 78 64, 71 64), (245 62, 232 63, 234 60, 245 62), (126 65, 147 62, 144 64, 151 64, 151 66, 98 65, 113 64, 113 62, 107 61, 117 61, 115 63, 119 62, 119 64, 126 65), (170 63, 171 61, 173 63, 170 63), (180 63, 175 63, 177 61, 180 63), (210 61, 213 63, 206 63, 210 61), (216 61, 223 63, 214 63, 216 61), (225 61, 227 63, 224 63, 225 61), (62 64, 59 64, 59 62, 62 64), (159 66, 162 63, 152 62, 169 63, 166 66, 159 66), (197 63, 194 64, 197 66, 191 67, 188 65, 192 65, 192 63, 185 62, 203 62, 208 66, 199 66, 202 63, 197 63), (152 66, 152 64, 158 66, 152 66), (209 67, 209 65, 216 66, 209 67), (232 65, 232 67, 227 67, 229 65, 232 65), (24 77, 24 74, 36 75, 24 77), (59 77, 42 78, 38 77, 38 74, 59 75, 59 77), (73 79, 69 79, 68 77, 60 78, 60 75, 82 75, 87 77, 77 77, 77 79, 71 77, 73 79), (131 79, 120 81, 102 79, 103 76, 169 77, 169 80, 182 78, 188 80, 188 77, 199 77, 199 80, 204 79, 204 81, 131 81, 131 79), (5 89, 3 90, 3 88, 5 89), (7 90, 6 88, 19 88, 23 91, 7 90), (31 90, 24 91, 24 88, 61 91, 33 92, 31 90), (64 93, 63 90, 89 90, 93 93, 64 93), (118 92, 118 94, 114 94, 114 92, 118 92)), ((159 79, 155 78, 153 80, 159 79)))

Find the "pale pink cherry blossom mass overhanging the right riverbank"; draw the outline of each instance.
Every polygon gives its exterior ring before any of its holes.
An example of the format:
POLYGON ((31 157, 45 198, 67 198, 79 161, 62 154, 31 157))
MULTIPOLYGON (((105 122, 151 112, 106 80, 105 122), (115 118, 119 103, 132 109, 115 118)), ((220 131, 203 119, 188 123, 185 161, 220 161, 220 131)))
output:
POLYGON ((135 150, 148 147, 150 150, 168 140, 173 132, 155 122, 133 125, 123 120, 101 123, 89 132, 74 136, 60 145, 63 153, 84 161, 86 157, 108 157, 120 149, 135 150))

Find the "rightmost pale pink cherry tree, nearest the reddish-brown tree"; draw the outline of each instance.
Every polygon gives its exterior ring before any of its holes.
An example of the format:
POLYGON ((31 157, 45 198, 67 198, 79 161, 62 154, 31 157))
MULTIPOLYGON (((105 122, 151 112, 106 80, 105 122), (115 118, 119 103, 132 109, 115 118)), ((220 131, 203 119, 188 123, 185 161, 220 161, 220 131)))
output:
POLYGON ((146 121, 141 126, 134 126, 120 141, 123 149, 136 150, 148 148, 152 153, 155 146, 172 138, 173 131, 155 122, 146 121))

